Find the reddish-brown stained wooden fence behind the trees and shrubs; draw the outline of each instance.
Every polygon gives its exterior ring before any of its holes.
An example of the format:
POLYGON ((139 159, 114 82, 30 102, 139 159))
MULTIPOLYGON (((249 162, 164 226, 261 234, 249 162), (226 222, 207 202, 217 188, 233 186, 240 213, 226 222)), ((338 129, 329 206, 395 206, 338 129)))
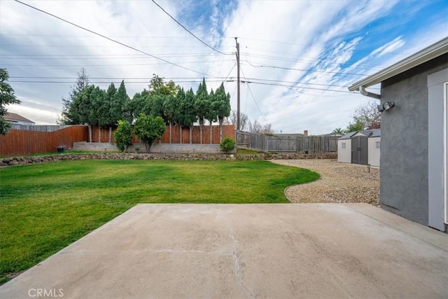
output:
MULTIPOLYGON (((35 153, 52 153, 57 151, 57 146, 66 145, 73 148, 73 142, 89 141, 89 128, 85 125, 73 126, 29 126, 20 125, 18 129, 11 129, 6 136, 0 135, 0 156, 33 155, 35 153), (19 129, 19 130, 18 130, 19 129)), ((92 142, 114 142, 113 134, 116 128, 92 127, 92 142)), ((219 144, 219 125, 205 126, 202 132, 202 144, 219 144)), ((235 138, 235 126, 223 126, 223 138, 235 138)), ((169 126, 160 139, 160 143, 170 143, 169 126)), ((133 137, 133 143, 139 143, 137 137, 133 137)), ((172 126, 172 144, 190 144, 190 128, 172 126)), ((194 126, 192 130, 192 144, 200 144, 200 127, 194 126)))

